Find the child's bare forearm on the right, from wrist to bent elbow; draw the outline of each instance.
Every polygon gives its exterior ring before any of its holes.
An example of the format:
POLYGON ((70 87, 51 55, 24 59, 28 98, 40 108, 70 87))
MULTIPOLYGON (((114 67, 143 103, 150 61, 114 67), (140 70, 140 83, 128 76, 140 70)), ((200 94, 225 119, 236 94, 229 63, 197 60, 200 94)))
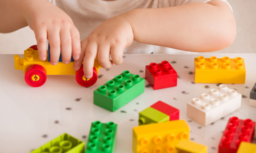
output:
POLYGON ((235 40, 235 18, 223 1, 138 9, 124 16, 139 43, 203 52, 224 49, 235 40))

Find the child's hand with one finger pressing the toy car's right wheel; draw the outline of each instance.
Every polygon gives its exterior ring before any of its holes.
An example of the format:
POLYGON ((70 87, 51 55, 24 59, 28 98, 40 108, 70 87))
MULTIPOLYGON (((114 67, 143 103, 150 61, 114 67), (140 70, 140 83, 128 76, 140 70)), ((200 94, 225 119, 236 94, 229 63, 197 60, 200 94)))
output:
POLYGON ((100 66, 105 69, 111 68, 113 63, 121 64, 123 50, 133 41, 132 27, 122 14, 108 19, 82 41, 81 59, 74 62, 74 70, 80 69, 83 62, 85 78, 92 78, 96 56, 100 66))

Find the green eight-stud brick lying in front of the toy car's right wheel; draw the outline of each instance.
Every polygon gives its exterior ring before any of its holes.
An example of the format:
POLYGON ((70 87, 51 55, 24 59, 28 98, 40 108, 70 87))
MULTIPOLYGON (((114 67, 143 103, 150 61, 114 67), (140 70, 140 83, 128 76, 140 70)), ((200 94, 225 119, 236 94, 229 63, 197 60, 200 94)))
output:
POLYGON ((145 91, 145 79, 123 71, 94 91, 94 104, 111 112, 118 110, 145 91))

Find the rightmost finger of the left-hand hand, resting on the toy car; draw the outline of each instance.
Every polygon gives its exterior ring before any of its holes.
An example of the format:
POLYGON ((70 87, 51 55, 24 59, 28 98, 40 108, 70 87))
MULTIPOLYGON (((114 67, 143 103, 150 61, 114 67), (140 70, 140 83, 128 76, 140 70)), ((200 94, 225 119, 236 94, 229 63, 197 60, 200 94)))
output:
POLYGON ((74 60, 79 60, 81 58, 81 41, 80 34, 75 26, 70 28, 70 34, 72 38, 72 55, 74 60))

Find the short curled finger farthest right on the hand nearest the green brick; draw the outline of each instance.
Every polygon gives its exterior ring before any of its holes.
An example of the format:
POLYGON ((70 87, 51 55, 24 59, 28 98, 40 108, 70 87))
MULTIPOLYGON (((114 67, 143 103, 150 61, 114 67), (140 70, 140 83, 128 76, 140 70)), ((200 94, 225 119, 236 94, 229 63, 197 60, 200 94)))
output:
POLYGON ((111 47, 111 59, 114 64, 122 64, 122 54, 124 47, 122 45, 114 45, 111 47))

